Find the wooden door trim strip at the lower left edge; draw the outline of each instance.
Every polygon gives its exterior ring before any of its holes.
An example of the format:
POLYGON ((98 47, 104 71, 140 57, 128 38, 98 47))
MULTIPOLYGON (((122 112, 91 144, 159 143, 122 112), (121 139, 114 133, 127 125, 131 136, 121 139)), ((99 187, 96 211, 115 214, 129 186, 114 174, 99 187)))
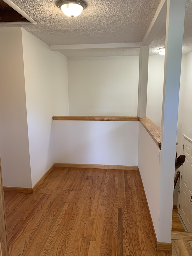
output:
POLYGON ((9 256, 7 240, 7 227, 5 218, 4 194, 3 194, 3 181, 1 173, 1 158, 0 158, 0 254, 9 256))

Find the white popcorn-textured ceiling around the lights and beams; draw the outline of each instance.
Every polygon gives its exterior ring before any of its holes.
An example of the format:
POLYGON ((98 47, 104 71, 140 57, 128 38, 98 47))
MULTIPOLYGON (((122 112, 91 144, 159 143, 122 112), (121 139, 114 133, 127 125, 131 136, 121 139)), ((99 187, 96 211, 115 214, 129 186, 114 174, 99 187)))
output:
MULTIPOLYGON (((74 19, 57 7, 58 0, 11 0, 37 24, 22 26, 49 45, 142 42, 161 0, 86 0, 74 19)), ((2 23, 1 23, 2 24, 2 23)), ((2 25, 1 25, 2 26, 2 25)), ((10 25, 4 25, 10 26, 10 25)), ((150 55, 165 45, 165 26, 150 45, 150 55)), ((186 0, 183 53, 192 51, 192 0, 186 0)), ((61 52, 61 51, 60 51, 61 52)), ((66 56, 138 55, 138 49, 63 50, 66 56)))

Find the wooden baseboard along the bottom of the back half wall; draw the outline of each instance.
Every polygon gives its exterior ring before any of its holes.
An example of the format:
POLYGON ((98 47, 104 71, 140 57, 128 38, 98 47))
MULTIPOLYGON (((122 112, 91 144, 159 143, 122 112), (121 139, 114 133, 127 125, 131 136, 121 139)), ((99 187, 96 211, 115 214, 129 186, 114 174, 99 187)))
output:
POLYGON ((55 163, 55 167, 73 167, 73 168, 96 168, 96 169, 113 169, 113 170, 138 170, 137 166, 126 165, 109 165, 109 164, 62 164, 55 163))

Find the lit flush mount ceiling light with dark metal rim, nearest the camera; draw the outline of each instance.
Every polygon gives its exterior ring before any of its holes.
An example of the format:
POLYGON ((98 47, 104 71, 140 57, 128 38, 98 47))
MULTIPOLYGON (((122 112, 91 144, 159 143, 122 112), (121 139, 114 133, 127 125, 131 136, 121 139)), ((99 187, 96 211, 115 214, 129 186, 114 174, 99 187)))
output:
POLYGON ((68 17, 77 17, 86 8, 86 5, 81 0, 61 0, 58 2, 58 7, 68 17))

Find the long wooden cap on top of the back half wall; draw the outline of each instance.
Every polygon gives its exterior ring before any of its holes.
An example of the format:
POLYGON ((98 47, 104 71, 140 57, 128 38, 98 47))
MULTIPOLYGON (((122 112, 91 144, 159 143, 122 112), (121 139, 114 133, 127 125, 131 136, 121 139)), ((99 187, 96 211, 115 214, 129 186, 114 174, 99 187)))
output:
POLYGON ((61 121, 139 121, 137 116, 53 116, 52 119, 61 121))

